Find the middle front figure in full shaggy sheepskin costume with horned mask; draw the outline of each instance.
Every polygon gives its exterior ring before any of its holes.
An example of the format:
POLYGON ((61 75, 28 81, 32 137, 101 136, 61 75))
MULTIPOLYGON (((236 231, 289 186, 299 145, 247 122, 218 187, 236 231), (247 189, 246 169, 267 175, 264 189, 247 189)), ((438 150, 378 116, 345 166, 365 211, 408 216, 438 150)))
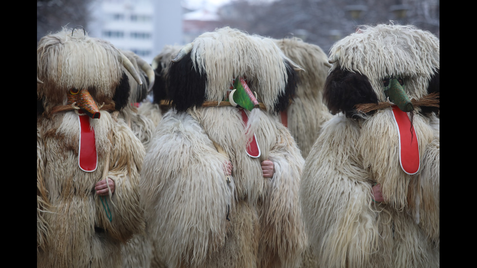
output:
POLYGON ((273 115, 288 106, 294 68, 273 40, 231 28, 197 37, 173 59, 172 109, 141 173, 149 233, 169 268, 299 264, 307 244, 298 200, 304 159, 273 115), (234 78, 247 80, 261 108, 231 105, 234 78), (254 137, 258 157, 247 151, 254 137), (273 178, 263 177, 267 159, 273 178))

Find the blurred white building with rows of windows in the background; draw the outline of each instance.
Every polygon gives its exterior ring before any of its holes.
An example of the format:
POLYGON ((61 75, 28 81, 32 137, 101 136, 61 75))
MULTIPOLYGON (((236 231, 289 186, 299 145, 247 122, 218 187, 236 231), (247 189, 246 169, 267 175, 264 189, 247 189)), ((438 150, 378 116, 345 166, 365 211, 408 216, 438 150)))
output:
POLYGON ((167 44, 183 44, 178 0, 97 0, 88 34, 152 62, 167 44))

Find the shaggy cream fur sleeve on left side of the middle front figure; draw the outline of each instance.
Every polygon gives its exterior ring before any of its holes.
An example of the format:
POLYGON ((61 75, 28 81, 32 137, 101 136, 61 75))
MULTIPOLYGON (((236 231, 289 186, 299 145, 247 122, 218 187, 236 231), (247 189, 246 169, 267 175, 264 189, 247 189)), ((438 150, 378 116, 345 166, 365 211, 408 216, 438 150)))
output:
POLYGON ((148 225, 159 228, 150 233, 158 236, 161 255, 169 265, 182 258, 204 262, 205 253, 224 243, 233 201, 234 183, 223 176, 225 157, 189 114, 169 111, 145 161, 141 196, 148 225))

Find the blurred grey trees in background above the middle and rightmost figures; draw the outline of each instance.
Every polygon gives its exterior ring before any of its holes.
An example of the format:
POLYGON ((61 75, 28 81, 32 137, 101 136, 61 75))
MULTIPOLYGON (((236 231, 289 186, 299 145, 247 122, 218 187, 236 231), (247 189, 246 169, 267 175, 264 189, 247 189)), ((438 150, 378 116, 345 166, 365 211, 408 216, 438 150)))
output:
POLYGON ((234 0, 220 10, 221 24, 251 34, 298 36, 328 51, 362 24, 393 20, 439 37, 440 0, 234 0))

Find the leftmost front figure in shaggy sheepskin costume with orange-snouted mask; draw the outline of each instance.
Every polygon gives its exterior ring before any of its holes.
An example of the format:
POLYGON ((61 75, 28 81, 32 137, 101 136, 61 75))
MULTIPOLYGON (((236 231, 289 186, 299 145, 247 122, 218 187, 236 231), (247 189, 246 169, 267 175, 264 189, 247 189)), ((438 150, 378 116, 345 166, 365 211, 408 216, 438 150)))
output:
POLYGON ((144 146, 110 114, 128 103, 127 72, 141 83, 124 54, 84 30, 38 43, 37 267, 121 267, 121 244, 145 230, 144 146), (107 178, 114 193, 98 196, 107 178))

